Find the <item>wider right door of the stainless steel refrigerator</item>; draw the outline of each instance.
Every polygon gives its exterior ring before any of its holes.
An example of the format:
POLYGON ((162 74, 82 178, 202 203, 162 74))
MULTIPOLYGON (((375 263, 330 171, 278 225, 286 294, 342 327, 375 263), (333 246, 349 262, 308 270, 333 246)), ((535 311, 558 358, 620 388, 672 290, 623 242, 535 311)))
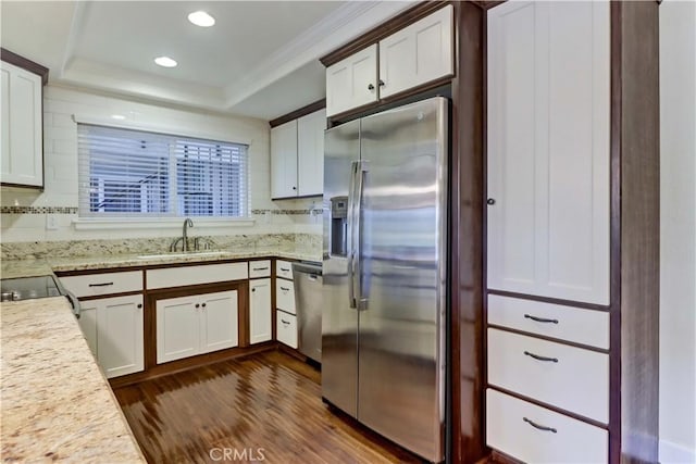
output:
POLYGON ((447 100, 362 120, 358 419, 444 459, 447 100))

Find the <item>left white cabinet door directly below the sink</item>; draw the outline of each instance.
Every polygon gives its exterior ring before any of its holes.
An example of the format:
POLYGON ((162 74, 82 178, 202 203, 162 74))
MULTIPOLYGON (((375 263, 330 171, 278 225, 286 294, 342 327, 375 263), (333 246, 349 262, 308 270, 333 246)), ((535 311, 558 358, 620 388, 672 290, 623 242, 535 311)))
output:
POLYGON ((158 300, 157 362, 179 360, 198 354, 200 347, 200 297, 158 300), (199 308, 196 308, 196 304, 199 308))

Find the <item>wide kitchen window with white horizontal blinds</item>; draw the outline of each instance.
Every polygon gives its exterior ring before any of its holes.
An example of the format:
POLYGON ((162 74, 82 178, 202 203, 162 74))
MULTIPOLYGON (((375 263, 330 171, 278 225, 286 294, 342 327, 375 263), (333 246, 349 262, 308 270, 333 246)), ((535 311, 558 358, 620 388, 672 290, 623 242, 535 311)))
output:
POLYGON ((78 124, 82 217, 248 216, 247 146, 78 124))

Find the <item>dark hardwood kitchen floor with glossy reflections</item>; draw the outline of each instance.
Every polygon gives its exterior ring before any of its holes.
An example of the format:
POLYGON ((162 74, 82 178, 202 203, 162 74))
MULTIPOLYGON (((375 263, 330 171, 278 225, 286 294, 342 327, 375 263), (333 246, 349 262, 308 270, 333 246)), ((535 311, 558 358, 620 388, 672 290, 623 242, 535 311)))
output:
POLYGON ((276 350, 114 393, 150 463, 419 462, 330 411, 320 373, 276 350))

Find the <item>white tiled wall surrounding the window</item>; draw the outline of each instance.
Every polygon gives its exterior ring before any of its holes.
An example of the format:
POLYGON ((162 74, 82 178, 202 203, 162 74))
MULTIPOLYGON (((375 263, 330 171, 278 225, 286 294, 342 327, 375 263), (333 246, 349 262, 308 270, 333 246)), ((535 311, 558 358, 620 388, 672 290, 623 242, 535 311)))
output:
MULTIPOLYGON (((271 201, 270 129, 264 121, 196 112, 49 85, 45 88, 44 98, 45 191, 2 188, 2 206, 77 208, 77 133, 74 114, 107 121, 112 114, 121 114, 127 116, 128 123, 160 127, 162 131, 171 134, 249 143, 251 210, 303 210, 312 205, 312 200, 271 201)), ((53 213, 52 216, 58 225, 55 230, 47 230, 47 214, 3 213, 0 221, 2 242, 169 237, 178 235, 181 228, 171 224, 169 227, 158 225, 136 229, 85 230, 75 228, 77 214, 53 213)), ((199 224, 196 233, 321 233, 315 224, 318 221, 309 215, 265 214, 256 216, 256 220, 253 225, 244 227, 229 225, 207 228, 199 224)))

